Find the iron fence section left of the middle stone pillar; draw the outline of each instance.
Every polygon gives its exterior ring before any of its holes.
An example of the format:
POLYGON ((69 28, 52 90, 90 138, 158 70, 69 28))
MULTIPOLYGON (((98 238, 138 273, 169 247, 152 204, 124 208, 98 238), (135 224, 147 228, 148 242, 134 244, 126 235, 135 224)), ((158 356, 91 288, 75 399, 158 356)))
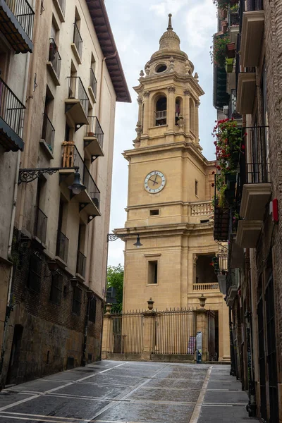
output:
POLYGON ((141 354, 143 350, 143 314, 112 314, 109 353, 141 354))

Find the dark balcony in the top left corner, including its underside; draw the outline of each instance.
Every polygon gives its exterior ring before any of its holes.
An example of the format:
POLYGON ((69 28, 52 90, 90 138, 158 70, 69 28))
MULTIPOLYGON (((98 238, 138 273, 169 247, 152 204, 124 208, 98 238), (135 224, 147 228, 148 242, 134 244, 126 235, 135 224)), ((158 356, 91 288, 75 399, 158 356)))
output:
POLYGON ((0 0, 1 32, 16 54, 32 52, 34 15, 27 0, 0 0))

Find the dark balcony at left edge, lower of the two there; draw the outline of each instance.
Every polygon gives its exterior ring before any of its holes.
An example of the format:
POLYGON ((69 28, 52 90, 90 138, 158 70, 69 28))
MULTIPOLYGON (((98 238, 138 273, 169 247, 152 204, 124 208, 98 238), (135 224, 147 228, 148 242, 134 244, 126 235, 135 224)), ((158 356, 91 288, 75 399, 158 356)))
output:
POLYGON ((23 151, 25 106, 0 78, 0 144, 5 152, 23 151))

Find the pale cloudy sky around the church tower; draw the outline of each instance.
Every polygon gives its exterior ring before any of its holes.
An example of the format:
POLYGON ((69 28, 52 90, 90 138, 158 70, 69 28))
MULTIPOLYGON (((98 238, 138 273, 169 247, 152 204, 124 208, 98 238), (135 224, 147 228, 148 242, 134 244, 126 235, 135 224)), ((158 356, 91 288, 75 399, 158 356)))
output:
MULTIPOLYGON (((200 98, 200 144, 207 159, 214 159, 212 129, 216 112, 212 106, 212 65, 209 47, 216 32, 216 8, 212 0, 105 0, 121 63, 133 102, 117 103, 114 149, 114 173, 111 195, 111 230, 123 228, 128 189, 128 162, 121 153, 133 148, 136 137, 137 94, 141 69, 166 31, 168 13, 173 30, 180 37, 180 48, 188 54, 199 75, 205 94, 200 98)), ((110 231, 111 231, 110 230, 110 231)), ((123 264, 123 241, 109 243, 109 264, 123 264)))

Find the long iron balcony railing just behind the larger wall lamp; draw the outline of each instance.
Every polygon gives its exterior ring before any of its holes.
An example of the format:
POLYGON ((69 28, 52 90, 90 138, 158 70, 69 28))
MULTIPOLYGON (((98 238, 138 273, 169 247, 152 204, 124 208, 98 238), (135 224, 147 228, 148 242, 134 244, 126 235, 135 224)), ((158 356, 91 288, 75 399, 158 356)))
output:
POLYGON ((82 183, 86 186, 88 195, 92 202, 99 209, 100 191, 92 178, 90 171, 87 169, 78 149, 75 145, 63 145, 63 168, 78 167, 82 183))

